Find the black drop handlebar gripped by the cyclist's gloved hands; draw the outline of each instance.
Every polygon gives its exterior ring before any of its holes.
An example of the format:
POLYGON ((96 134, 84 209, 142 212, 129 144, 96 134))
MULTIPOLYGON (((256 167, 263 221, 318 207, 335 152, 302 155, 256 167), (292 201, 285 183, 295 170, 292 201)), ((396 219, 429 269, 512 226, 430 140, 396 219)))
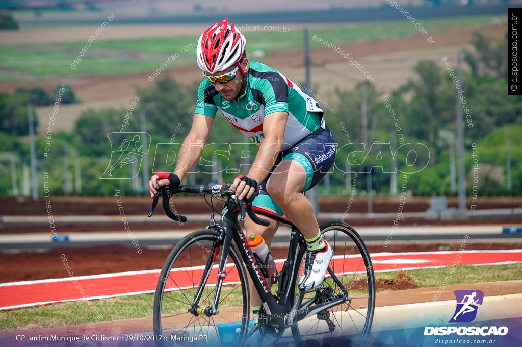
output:
POLYGON ((215 186, 198 186, 195 184, 188 184, 186 186, 180 186, 176 188, 167 188, 168 186, 162 186, 158 187, 158 192, 156 195, 154 195, 154 198, 152 199, 152 205, 150 206, 150 211, 148 216, 151 217, 152 213, 154 212, 154 209, 156 208, 156 205, 158 204, 158 200, 160 195, 163 198, 162 205, 163 205, 163 211, 165 211, 165 214, 173 219, 176 222, 182 222, 185 223, 187 221, 187 217, 182 216, 180 214, 176 214, 172 212, 170 209, 170 199, 172 198, 172 195, 177 193, 191 193, 191 194, 211 194, 211 195, 217 195, 217 196, 224 196, 227 198, 231 198, 235 201, 235 203, 238 205, 240 210, 240 217, 241 221, 245 218, 245 212, 248 214, 248 217, 252 219, 252 221, 256 224, 260 224, 263 226, 269 226, 270 221, 267 219, 259 218, 254 210, 252 209, 252 202, 247 202, 243 204, 242 201, 238 200, 235 197, 235 193, 230 190, 230 184, 216 184, 215 186))

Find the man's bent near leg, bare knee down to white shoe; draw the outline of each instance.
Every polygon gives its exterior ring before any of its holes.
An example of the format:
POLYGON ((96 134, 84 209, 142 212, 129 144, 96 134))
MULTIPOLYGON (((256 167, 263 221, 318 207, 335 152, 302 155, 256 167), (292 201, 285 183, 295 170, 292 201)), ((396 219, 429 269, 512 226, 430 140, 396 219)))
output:
POLYGON ((301 191, 305 188, 310 173, 296 160, 283 160, 267 182, 267 191, 303 234, 307 253, 300 290, 310 291, 321 286, 333 250, 319 233, 319 225, 314 216, 312 203, 301 191))

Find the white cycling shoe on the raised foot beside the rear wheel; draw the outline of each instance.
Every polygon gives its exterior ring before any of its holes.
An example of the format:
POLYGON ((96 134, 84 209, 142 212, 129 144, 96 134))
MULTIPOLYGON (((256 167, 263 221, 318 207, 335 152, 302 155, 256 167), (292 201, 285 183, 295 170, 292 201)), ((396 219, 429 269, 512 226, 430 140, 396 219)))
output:
POLYGON ((300 291, 313 291, 320 287, 325 280, 328 264, 334 256, 334 251, 326 240, 323 241, 326 245, 325 249, 318 251, 306 250, 303 274, 299 281, 300 291))

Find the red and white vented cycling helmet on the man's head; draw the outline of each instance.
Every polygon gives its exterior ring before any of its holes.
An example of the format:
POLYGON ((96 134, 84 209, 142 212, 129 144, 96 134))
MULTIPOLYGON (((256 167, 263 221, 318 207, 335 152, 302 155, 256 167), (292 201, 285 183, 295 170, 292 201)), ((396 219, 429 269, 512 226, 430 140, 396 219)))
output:
POLYGON ((199 37, 197 64, 205 73, 214 74, 234 65, 245 52, 246 39, 235 27, 223 19, 215 23, 199 37))

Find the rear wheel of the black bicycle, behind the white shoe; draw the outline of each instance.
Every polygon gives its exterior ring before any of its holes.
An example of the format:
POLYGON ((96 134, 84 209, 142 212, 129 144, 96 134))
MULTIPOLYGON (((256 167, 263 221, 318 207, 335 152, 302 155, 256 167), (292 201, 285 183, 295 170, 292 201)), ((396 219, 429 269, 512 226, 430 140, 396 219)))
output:
MULTIPOLYGON (((296 343, 319 341, 322 345, 348 345, 349 341, 363 339, 372 327, 375 308, 375 276, 370 253, 361 236, 350 225, 331 221, 321 224, 321 234, 334 250, 330 269, 348 292, 350 300, 331 307, 292 327, 296 343)), ((298 253, 299 277, 303 271, 306 245, 298 253)), ((299 294, 299 278, 293 282, 295 296, 299 294)), ((316 298, 315 304, 326 303, 342 296, 342 288, 327 273, 318 290, 306 293, 303 299, 316 298)), ((293 299, 292 304, 295 302, 293 299)), ((314 305, 310 308, 312 309, 314 305)))

